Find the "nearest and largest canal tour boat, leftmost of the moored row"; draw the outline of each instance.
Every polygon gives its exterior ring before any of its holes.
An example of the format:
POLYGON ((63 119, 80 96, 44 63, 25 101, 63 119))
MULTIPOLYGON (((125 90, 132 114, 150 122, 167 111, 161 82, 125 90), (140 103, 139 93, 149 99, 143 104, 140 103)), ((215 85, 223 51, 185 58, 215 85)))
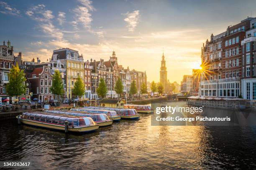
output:
POLYGON ((99 129, 99 125, 90 117, 74 117, 70 115, 51 115, 46 112, 23 112, 18 116, 23 124, 66 131, 65 122, 67 122, 67 131, 69 132, 91 132, 99 129))

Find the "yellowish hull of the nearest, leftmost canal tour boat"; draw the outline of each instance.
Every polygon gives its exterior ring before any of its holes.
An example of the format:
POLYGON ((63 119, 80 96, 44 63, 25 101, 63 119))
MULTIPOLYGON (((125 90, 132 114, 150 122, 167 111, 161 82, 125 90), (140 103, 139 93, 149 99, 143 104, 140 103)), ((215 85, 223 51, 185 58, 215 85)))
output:
MULTIPOLYGON (((23 124, 31 125, 31 126, 36 126, 36 127, 41 127, 41 128, 47 128, 47 129, 54 129, 54 130, 61 130, 65 131, 64 126, 59 126, 59 125, 53 125, 53 124, 46 124, 46 123, 41 123, 41 122, 35 122, 31 120, 25 120, 25 119, 20 119, 20 122, 23 124)), ((92 132, 99 129, 99 125, 95 124, 92 126, 87 126, 87 127, 78 127, 78 128, 72 128, 69 127, 68 131, 69 132, 81 132, 81 133, 86 133, 86 132, 92 132)))

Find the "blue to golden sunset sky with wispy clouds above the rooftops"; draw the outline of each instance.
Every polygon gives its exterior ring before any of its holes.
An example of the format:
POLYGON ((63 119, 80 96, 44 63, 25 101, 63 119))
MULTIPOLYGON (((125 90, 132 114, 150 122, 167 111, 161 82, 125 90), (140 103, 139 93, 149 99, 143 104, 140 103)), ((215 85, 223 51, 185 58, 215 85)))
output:
POLYGON ((118 64, 156 82, 164 52, 167 79, 180 83, 200 68, 202 43, 256 17, 255 6, 256 0, 0 0, 0 41, 10 40, 26 61, 46 62, 59 48, 77 50, 85 61, 107 61, 115 51, 118 64))

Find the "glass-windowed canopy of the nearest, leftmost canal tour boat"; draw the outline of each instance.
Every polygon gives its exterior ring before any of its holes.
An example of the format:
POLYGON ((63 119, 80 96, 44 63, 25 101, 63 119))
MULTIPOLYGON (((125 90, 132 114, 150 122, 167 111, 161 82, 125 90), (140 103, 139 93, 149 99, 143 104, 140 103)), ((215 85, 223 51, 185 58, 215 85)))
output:
POLYGON ((74 127, 90 126, 95 124, 90 117, 74 117, 72 115, 58 116, 48 114, 46 112, 23 112, 21 118, 60 125, 64 125, 65 121, 67 121, 69 126, 74 127))

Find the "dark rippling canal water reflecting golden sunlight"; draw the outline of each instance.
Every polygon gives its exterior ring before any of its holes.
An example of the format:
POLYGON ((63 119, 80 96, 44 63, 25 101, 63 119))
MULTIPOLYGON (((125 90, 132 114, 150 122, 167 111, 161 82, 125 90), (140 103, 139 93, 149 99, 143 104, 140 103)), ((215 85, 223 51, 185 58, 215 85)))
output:
POLYGON ((151 114, 82 135, 6 120, 0 123, 0 146, 0 169, 3 162, 31 162, 30 169, 256 167, 256 126, 151 126, 151 114))

